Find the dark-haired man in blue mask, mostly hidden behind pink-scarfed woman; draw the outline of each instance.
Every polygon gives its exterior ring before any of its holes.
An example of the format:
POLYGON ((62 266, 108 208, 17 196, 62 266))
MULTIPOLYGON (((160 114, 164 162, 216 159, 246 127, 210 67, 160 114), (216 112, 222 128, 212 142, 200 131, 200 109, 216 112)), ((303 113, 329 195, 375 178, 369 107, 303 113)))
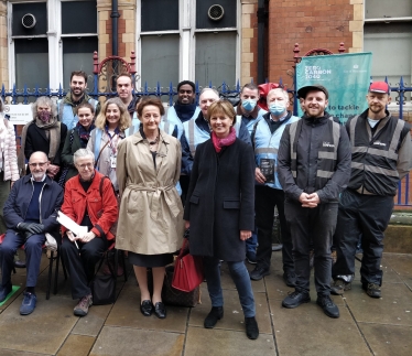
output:
MULTIPOLYGON (((257 103, 259 100, 259 88, 253 83, 246 84, 240 91, 240 105, 235 110, 237 114, 237 120, 243 122, 249 131, 252 133, 254 125, 262 118, 268 111, 261 109, 257 103)), ((258 247, 258 236, 253 231, 251 238, 246 240, 246 258, 249 263, 256 263, 256 250, 258 247)))

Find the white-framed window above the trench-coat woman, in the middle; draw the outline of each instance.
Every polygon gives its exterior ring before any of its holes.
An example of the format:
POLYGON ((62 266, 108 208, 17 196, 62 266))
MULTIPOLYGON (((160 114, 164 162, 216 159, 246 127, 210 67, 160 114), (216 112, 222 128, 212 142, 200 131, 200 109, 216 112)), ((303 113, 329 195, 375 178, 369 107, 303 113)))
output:
POLYGON ((209 15, 216 0, 138 1, 138 86, 147 83, 153 88, 159 82, 167 88, 183 79, 235 86, 240 75, 240 4, 239 0, 218 3, 220 8, 209 15))

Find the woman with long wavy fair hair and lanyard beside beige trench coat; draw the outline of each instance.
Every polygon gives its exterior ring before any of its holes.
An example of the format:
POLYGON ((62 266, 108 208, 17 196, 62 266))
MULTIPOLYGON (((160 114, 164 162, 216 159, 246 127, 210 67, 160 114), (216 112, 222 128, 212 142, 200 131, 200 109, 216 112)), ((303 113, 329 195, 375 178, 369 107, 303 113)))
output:
POLYGON ((96 129, 91 131, 87 148, 95 153, 96 169, 107 175, 118 191, 116 157, 118 143, 124 139, 130 127, 130 115, 119 98, 106 100, 96 118, 96 129))

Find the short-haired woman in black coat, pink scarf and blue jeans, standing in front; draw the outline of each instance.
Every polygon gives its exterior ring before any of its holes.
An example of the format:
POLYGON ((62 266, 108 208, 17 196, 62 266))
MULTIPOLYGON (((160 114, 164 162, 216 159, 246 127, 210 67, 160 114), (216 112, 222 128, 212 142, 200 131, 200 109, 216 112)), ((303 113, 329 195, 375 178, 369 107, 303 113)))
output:
POLYGON ((251 145, 236 138, 236 112, 227 100, 207 110, 212 138, 197 145, 184 219, 191 228, 191 253, 204 257, 212 311, 204 326, 224 316, 219 261, 229 266, 243 309, 246 334, 259 336, 246 242, 253 229, 254 157, 251 145))

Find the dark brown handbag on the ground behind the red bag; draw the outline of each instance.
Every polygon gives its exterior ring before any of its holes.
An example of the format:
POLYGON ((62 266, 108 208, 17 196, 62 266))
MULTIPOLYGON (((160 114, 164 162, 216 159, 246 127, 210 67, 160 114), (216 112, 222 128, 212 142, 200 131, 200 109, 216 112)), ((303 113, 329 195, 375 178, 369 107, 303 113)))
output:
POLYGON ((200 287, 197 285, 192 292, 183 292, 172 287, 174 266, 167 266, 162 288, 162 301, 166 305, 193 308, 200 302, 200 287))

